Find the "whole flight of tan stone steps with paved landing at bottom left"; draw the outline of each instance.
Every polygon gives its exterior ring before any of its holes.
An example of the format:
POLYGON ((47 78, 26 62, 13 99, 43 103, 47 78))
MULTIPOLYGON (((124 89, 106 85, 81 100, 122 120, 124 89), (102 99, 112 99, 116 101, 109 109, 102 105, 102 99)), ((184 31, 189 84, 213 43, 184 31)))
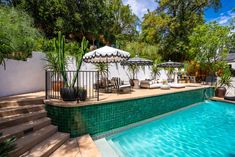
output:
POLYGON ((16 137, 16 149, 9 157, 101 157, 90 135, 69 139, 51 125, 43 94, 0 98, 0 142, 16 137))

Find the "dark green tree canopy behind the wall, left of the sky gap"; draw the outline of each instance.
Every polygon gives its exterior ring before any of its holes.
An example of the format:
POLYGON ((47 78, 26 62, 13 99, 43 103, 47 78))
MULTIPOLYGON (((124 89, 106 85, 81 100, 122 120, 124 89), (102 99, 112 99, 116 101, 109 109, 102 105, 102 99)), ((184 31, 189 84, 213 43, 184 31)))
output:
POLYGON ((138 18, 121 0, 6 0, 27 11, 37 28, 48 38, 59 30, 67 39, 81 41, 83 36, 94 44, 111 44, 136 34, 138 18))

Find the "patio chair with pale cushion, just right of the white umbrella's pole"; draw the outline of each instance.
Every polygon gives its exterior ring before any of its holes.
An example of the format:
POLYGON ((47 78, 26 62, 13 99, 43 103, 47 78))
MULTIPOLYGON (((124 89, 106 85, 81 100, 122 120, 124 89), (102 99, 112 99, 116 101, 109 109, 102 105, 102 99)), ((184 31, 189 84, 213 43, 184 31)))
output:
POLYGON ((111 79, 111 84, 113 84, 113 90, 117 93, 130 93, 131 92, 131 85, 124 84, 123 81, 119 77, 113 77, 111 79))

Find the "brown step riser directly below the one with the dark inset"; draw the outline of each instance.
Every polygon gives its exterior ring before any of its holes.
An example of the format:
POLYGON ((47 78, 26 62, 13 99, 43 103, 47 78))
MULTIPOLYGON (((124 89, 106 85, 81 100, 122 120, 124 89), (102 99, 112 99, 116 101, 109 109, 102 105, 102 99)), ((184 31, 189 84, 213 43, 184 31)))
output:
POLYGON ((32 149, 35 145, 51 137, 57 132, 57 127, 49 125, 16 140, 16 149, 9 153, 9 157, 17 157, 32 149))

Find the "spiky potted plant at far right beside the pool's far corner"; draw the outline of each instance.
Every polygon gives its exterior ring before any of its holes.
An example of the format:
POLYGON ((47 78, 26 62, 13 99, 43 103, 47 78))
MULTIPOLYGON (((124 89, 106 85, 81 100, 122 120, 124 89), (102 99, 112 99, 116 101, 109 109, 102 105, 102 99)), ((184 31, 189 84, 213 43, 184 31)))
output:
POLYGON ((227 67, 223 70, 223 74, 219 78, 218 86, 215 90, 216 97, 224 98, 227 91, 226 87, 229 88, 232 86, 231 77, 230 69, 227 67))

